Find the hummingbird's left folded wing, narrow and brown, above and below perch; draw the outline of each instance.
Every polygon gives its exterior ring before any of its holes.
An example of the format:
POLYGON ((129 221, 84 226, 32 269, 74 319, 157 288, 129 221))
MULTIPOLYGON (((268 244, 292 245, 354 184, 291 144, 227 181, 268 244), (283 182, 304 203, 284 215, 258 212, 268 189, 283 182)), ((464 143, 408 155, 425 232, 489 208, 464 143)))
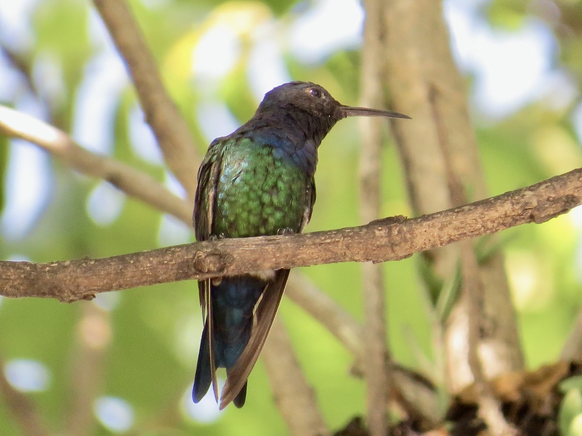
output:
MULTIPOLYGON (((220 178, 220 169, 222 161, 222 148, 220 146, 221 138, 212 141, 208 147, 200 170, 198 170, 198 185, 196 196, 194 198, 193 226, 194 234, 197 241, 206 241, 211 235, 212 221, 214 220, 214 205, 217 192, 218 180, 220 178)), ((210 279, 198 280, 198 294, 200 296, 200 307, 202 316, 205 318, 204 325, 207 329, 206 339, 208 340, 208 349, 210 352, 210 373, 212 378, 212 389, 214 398, 218 402, 218 384, 216 377, 216 364, 214 358, 214 340, 212 304, 210 298, 210 279)))

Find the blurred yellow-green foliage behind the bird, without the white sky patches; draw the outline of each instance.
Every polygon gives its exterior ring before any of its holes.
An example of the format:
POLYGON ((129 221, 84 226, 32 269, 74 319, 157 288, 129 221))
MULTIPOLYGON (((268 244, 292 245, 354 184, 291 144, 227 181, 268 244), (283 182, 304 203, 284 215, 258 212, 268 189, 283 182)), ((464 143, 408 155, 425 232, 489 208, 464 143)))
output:
MULTIPOLYGON (((210 99, 224 103, 238 123, 246 120, 257 106, 258 98, 247 70, 256 42, 256 28, 276 25, 284 33, 289 23, 310 7, 308 3, 282 0, 229 3, 132 0, 130 3, 172 98, 201 144, 201 153, 212 139, 205 137, 204 126, 197 117, 201 102, 210 99), (240 51, 230 72, 215 87, 208 87, 206 82, 193 76, 196 57, 192 53, 201 37, 217 24, 229 26, 236 33, 240 51)), ((556 69, 567 72, 576 88, 576 97, 566 106, 556 108, 545 99, 537 99, 495 122, 481 118, 475 109, 477 138, 492 195, 582 164, 582 151, 570 117, 580 99, 582 12, 579 9, 580 2, 572 1, 484 2, 481 13, 494 27, 513 31, 526 20, 544 20, 559 46, 554 60, 556 69), (558 11, 557 15, 552 15, 552 11, 558 11)), ((13 60, 19 61, 12 68, 19 71, 23 83, 29 83, 38 105, 44 108, 42 113, 50 122, 68 131, 72 130, 79 110, 81 83, 90 70, 91 59, 101 50, 92 36, 100 26, 96 23, 97 14, 86 2, 38 2, 31 12, 29 26, 33 38, 29 47, 11 53, 13 60), (47 59, 58 72, 58 82, 62 85, 59 92, 48 95, 39 91, 42 86, 38 86, 38 81, 42 77, 35 76, 39 63, 47 59)), ((282 45, 282 59, 289 77, 321 83, 339 101, 357 103, 359 51, 337 49, 320 62, 307 63, 282 45)), ((8 46, 3 48, 11 51, 8 46)), ((20 97, 16 93, 13 100, 1 103, 18 106, 20 97)), ((129 113, 135 103, 134 92, 128 86, 111 108, 109 116, 113 122, 109 128, 115 138, 111 154, 159 181, 166 181, 164 167, 141 158, 136 153, 136 146, 140 145, 130 140, 129 113)), ((316 176, 318 201, 308 231, 359 224, 355 164, 358 141, 357 122, 345 120, 322 144, 316 176)), ((13 148, 19 146, 8 143, 0 137, 0 207, 5 205, 5 196, 27 195, 25 191, 10 191, 7 184, 6 167, 13 148)), ((398 154, 388 141, 383 164, 382 214, 410 215, 398 154)), ((3 259, 47 262, 83 256, 93 258, 163 245, 160 213, 127 198, 110 224, 99 224, 88 212, 87 205, 100 182, 77 174, 56 160, 51 160, 50 165, 52 176, 46 181, 50 186, 49 198, 30 231, 23 238, 15 239, 8 224, 2 225, 0 255, 3 259)), ((579 235, 580 212, 560 216, 541 226, 529 224, 513 228, 503 235, 501 248, 507 253, 508 275, 531 367, 558 358, 578 311, 582 280, 579 235)), ((425 294, 423 280, 417 272, 418 263, 413 258, 384 266, 391 349, 398 362, 411 367, 418 367, 419 360, 426 357, 434 359, 431 345, 434 314, 427 313, 434 295, 429 298, 425 294)), ((359 265, 324 265, 303 268, 301 273, 356 319, 362 320, 359 265)), ((134 412, 133 429, 139 434, 285 434, 285 424, 275 408, 260 362, 250 376, 243 409, 231 406, 209 424, 193 419, 184 411, 182 397, 189 396, 202 328, 196 289, 195 283, 172 283, 123 291, 119 292, 115 304, 102 309, 107 310, 112 337, 111 343, 102 350, 102 362, 92 369, 102 376, 102 384, 95 388, 96 395, 115 396, 128 402, 134 412)), ((72 409, 73 376, 83 371, 74 366, 73 359, 83 306, 95 303, 64 305, 55 301, 2 299, 0 304, 0 359, 4 362, 30 359, 47 367, 50 374, 47 389, 27 395, 37 403, 38 413, 50 430, 58 433, 72 409)), ((442 305, 447 306, 448 302, 442 305)), ((342 427, 352 416, 364 413, 364 383, 349 374, 352 356, 292 302, 283 301, 280 316, 289 328, 329 426, 342 427)), ((567 409, 569 400, 564 403, 562 414, 564 428, 569 429, 576 422, 575 415, 580 413, 580 389, 572 389, 575 413, 567 409)), ((19 431, 6 403, 0 401, 0 434, 20 434, 19 431)), ((109 434, 109 430, 95 424, 94 434, 109 434)))

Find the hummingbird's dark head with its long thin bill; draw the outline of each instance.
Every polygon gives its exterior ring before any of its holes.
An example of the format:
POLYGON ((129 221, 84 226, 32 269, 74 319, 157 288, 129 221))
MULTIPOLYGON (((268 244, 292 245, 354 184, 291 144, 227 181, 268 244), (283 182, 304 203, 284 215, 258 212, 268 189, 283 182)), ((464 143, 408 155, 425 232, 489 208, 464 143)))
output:
POLYGON ((257 112, 269 110, 298 111, 317 119, 328 120, 331 123, 330 128, 336 121, 350 116, 410 118, 388 110, 342 105, 324 87, 301 81, 285 83, 267 92, 257 112))

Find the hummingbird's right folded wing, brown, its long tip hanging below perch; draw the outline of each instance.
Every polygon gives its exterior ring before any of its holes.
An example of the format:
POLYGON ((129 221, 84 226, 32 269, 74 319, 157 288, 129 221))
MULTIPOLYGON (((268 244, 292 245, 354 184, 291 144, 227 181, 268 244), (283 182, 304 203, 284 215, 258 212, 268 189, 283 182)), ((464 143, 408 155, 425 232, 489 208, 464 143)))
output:
MULTIPOLYGON (((315 180, 312 177, 306 189, 306 204, 308 207, 304 210, 303 217, 297 230, 303 231, 311 218, 311 210, 313 210, 313 203, 315 202, 315 180)), ((275 271, 275 277, 269 280, 265 290, 262 292, 257 306, 254 310, 253 330, 249 342, 244 347, 240 354, 236 365, 229 371, 226 383, 222 388, 220 409, 224 409, 236 396, 240 390, 243 389, 247 383, 247 378, 255 363, 257 363, 258 356, 261 353, 263 345, 267 340, 269 330, 275 319, 279 303, 285 290, 285 285, 289 277, 289 270, 275 271)))

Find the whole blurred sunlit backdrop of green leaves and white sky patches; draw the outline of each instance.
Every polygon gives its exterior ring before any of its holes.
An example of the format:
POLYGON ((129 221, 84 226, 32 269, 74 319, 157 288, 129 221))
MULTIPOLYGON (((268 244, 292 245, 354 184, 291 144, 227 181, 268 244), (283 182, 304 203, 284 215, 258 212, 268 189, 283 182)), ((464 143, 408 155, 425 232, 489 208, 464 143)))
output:
MULTIPOLYGON (((69 131, 85 148, 147 171, 183 195, 162 165, 125 66, 95 9, 84 0, 9 3, 0 6, 0 103, 69 131)), ((340 101, 357 103, 364 13, 356 0, 130 3, 172 98, 204 147, 235 130, 266 91, 286 81, 316 81, 340 101)), ((491 194, 582 162, 580 66, 569 63, 559 40, 565 32, 560 11, 551 1, 524 2, 524 10, 505 3, 510 2, 444 3, 491 194)), ((358 137, 356 123, 345 121, 324 141, 308 230, 358 224, 353 165, 358 137)), ((193 240, 183 223, 68 169, 36 145, 0 138, 0 162, 2 259, 99 257, 193 240)), ((401 179, 398 156, 388 148, 385 215, 409 213, 401 179)), ((505 234, 530 366, 558 357, 576 316, 581 225, 582 212, 573 210, 505 234)), ((392 348, 400 362, 418 367, 420 354, 432 357, 420 279, 410 280, 414 270, 413 259, 386 265, 392 348)), ((303 272, 361 320, 359 266, 303 272)), ((97 434, 146 429, 182 434, 191 428, 199 428, 197 434, 233 434, 233 428, 249 435, 284 432, 261 364, 251 375, 242 410, 218 412, 208 395, 198 405, 191 402, 202 329, 195 283, 113 292, 83 304, 87 308, 0 298, 3 372, 38 403, 55 431, 67 421, 75 372, 84 370, 79 355, 95 352, 100 358, 87 370, 100 380, 89 393, 97 434)), ((349 353, 292 303, 283 302, 281 316, 331 427, 363 413, 364 387, 348 374, 349 353)), ((17 434, 2 402, 0 434, 17 434)))

